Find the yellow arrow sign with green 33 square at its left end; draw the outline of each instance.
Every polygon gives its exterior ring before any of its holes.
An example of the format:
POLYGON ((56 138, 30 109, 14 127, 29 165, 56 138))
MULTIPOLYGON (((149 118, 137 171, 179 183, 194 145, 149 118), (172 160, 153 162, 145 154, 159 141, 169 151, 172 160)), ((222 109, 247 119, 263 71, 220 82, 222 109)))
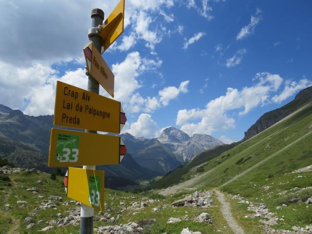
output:
POLYGON ((51 129, 48 166, 118 164, 126 152, 120 137, 51 129))

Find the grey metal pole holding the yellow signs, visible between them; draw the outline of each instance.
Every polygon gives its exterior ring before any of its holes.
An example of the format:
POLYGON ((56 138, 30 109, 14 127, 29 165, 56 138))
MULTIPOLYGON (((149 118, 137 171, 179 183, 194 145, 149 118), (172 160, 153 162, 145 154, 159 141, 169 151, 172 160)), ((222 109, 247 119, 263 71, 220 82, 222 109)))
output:
MULTIPOLYGON (((98 27, 98 25, 103 24, 104 20, 104 12, 101 9, 93 9, 91 11, 91 19, 92 19, 92 26, 91 27, 98 27)), ((101 37, 98 35, 92 35, 90 38, 98 51, 101 51, 101 37)), ((88 91, 98 94, 99 92, 99 84, 98 82, 92 78, 90 75, 88 76, 88 91)), ((97 134, 97 131, 85 130, 87 133, 94 133, 97 134)), ((95 170, 96 166, 83 166, 84 169, 95 170)), ((93 215, 94 209, 88 207, 84 204, 81 204, 80 209, 80 234, 92 234, 93 233, 93 215)))

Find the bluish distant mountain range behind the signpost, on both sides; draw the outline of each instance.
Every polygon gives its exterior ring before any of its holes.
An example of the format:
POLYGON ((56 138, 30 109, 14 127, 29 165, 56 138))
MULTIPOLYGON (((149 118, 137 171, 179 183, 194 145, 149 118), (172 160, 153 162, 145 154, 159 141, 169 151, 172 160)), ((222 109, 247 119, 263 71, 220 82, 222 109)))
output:
MULTIPOLYGON (((0 156, 16 166, 51 172, 47 167, 50 129, 53 116, 28 116, 0 104, 0 156)), ((81 131, 81 130, 78 130, 81 131)), ((160 137, 136 138, 121 134, 128 154, 119 165, 97 166, 106 176, 132 180, 165 175, 193 156, 222 144, 209 135, 189 137, 174 127, 166 128, 160 137)))

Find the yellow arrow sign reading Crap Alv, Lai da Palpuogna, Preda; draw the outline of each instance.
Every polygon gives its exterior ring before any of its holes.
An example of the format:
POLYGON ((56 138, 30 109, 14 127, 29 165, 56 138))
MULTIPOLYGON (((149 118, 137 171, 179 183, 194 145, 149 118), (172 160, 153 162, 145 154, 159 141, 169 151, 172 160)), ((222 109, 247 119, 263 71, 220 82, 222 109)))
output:
POLYGON ((119 134, 126 120, 119 101, 57 82, 54 125, 119 134))

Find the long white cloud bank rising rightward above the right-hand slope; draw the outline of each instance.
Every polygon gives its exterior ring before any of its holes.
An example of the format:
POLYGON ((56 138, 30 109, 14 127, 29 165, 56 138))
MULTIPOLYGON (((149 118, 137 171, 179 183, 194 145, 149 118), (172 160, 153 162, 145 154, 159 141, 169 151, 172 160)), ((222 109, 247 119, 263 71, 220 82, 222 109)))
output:
POLYGON ((235 115, 229 115, 229 112, 236 110, 236 116, 239 117, 258 105, 269 103, 270 95, 276 92, 283 79, 279 75, 258 73, 254 81, 257 82, 254 86, 241 90, 228 88, 224 96, 209 101, 205 109, 179 110, 176 124, 190 136, 195 133, 212 134, 215 131, 234 128, 235 115))

